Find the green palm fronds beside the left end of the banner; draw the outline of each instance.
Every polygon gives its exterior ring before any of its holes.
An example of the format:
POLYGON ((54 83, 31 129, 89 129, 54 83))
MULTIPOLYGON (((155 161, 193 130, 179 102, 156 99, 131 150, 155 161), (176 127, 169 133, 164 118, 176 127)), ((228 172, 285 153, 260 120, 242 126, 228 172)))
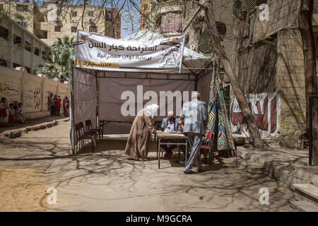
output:
POLYGON ((48 78, 58 78, 61 83, 70 81, 69 58, 75 54, 74 37, 58 38, 51 46, 52 59, 45 59, 37 68, 48 78))

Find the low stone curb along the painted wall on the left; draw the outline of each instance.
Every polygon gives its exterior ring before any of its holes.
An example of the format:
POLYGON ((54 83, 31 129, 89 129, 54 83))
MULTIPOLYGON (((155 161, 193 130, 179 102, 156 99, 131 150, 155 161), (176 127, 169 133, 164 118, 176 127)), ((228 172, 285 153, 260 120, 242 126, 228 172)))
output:
POLYGON ((60 122, 66 122, 66 121, 69 121, 69 118, 57 119, 57 120, 45 122, 42 124, 36 124, 34 126, 26 126, 21 129, 7 130, 1 133, 1 138, 8 138, 8 139, 18 138, 22 136, 23 133, 28 133, 29 131, 38 131, 40 129, 51 128, 53 126, 57 126, 60 122))

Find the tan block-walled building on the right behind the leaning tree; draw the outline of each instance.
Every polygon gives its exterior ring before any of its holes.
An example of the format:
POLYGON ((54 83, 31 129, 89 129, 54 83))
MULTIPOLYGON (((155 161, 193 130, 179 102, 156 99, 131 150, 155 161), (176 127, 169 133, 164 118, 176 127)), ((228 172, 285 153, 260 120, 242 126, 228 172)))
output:
MULTIPOLYGON (((259 1, 268 6, 266 18, 263 14, 266 9, 258 8, 252 1, 235 1, 234 6, 240 20, 234 56, 238 80, 247 94, 261 135, 278 138, 290 148, 300 146, 300 136, 306 131, 305 68, 299 27, 301 3, 299 0, 259 1)), ((313 21, 316 32, 317 3, 313 21)), ((245 122, 235 101, 230 115, 232 130, 240 135, 245 133, 245 122)))

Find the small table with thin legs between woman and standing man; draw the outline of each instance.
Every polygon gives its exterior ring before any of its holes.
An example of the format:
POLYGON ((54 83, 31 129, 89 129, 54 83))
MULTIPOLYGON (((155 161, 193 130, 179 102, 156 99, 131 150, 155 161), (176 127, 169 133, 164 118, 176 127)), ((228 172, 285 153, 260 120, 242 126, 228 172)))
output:
POLYGON ((187 136, 184 136, 181 133, 165 133, 162 131, 157 131, 157 159, 158 159, 158 169, 160 169, 160 145, 162 144, 170 144, 170 145, 185 145, 186 146, 186 152, 185 152, 185 164, 187 164, 187 153, 188 153, 188 139, 187 136), (172 140, 170 143, 162 143, 161 139, 165 140, 172 140), (180 141, 180 140, 185 140, 185 143, 181 142, 175 142, 175 141, 180 141), (158 155, 159 154, 159 155, 158 155))

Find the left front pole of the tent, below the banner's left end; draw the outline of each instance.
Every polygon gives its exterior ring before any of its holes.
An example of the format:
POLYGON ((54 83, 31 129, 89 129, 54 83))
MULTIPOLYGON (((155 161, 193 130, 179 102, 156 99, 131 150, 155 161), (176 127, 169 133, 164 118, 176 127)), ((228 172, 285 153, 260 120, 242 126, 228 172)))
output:
POLYGON ((70 76, 71 76, 71 149, 72 155, 76 155, 75 153, 75 125, 74 125, 74 68, 73 68, 73 61, 69 60, 69 69, 70 69, 70 76))

